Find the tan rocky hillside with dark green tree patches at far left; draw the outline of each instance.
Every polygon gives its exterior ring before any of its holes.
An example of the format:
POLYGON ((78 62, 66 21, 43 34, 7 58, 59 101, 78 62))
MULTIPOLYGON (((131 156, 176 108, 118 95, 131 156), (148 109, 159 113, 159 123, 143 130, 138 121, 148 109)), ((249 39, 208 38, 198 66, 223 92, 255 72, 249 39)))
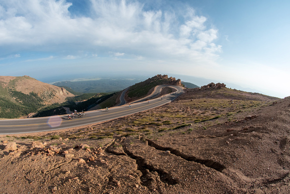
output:
POLYGON ((0 76, 0 118, 17 118, 38 108, 62 103, 73 94, 29 76, 0 76))

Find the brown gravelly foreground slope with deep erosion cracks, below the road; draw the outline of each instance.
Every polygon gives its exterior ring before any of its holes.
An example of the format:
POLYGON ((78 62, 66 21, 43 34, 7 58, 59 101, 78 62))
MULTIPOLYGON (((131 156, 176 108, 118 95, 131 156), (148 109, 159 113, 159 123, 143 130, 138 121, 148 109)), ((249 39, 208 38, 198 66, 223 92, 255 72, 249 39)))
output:
POLYGON ((0 137, 0 192, 289 193, 289 132, 290 98, 189 90, 106 123, 0 137))

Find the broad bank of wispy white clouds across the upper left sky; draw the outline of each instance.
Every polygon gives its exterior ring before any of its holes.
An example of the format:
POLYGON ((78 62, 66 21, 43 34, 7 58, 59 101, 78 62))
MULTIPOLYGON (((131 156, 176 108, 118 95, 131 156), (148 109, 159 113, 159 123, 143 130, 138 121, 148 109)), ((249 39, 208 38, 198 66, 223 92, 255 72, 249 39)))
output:
POLYGON ((217 29, 205 17, 180 2, 174 11, 147 4, 90 0, 89 13, 81 15, 65 0, 0 0, 0 57, 47 52, 47 57, 75 59, 114 53, 114 58, 214 63, 221 46, 214 43, 217 29))

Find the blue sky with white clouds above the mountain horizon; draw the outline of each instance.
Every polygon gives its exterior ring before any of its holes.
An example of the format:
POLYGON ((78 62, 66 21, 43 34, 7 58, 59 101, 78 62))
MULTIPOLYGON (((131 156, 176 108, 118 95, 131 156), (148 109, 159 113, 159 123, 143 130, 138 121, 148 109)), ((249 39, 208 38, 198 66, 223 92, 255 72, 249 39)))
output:
POLYGON ((179 74, 283 98, 289 8, 288 0, 0 0, 0 76, 179 74))

